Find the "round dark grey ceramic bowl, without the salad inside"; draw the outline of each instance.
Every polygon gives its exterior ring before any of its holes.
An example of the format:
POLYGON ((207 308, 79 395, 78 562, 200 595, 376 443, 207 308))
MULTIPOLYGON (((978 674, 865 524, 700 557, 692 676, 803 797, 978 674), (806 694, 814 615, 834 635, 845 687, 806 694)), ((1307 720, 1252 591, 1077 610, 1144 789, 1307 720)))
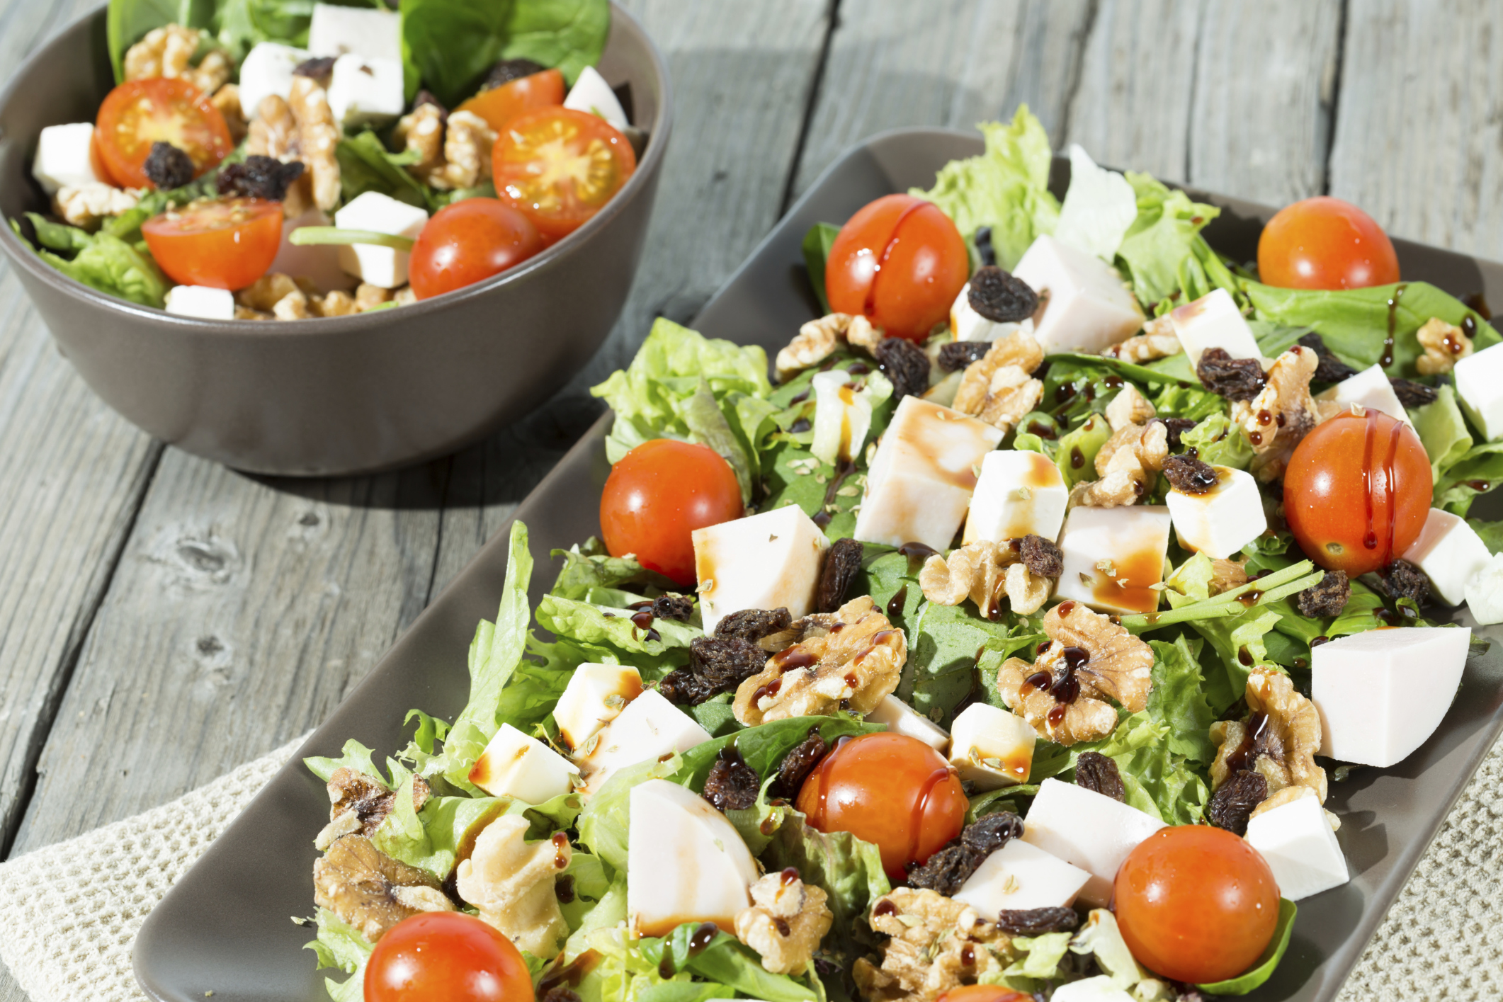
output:
MULTIPOLYGON (((63 355, 150 434, 227 466, 293 476, 452 452, 543 403, 594 355, 642 255, 672 125, 667 66, 612 5, 600 72, 631 86, 646 150, 579 231, 504 275, 410 306, 293 321, 206 321, 81 285, 0 227, 0 246, 63 355)), ((35 53, 0 93, 0 212, 44 212, 44 126, 92 122, 114 84, 105 12, 35 53)))

